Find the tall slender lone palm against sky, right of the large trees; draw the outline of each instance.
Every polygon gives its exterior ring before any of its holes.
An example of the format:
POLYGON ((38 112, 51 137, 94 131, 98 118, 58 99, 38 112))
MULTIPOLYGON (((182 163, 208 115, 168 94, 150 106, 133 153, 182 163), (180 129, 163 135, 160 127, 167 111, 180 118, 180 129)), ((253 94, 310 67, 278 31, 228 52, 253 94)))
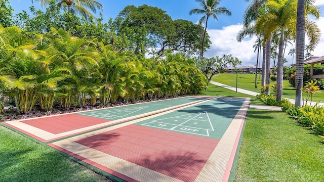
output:
POLYGON ((201 45, 201 53, 200 53, 200 59, 202 60, 204 58, 204 43, 205 43, 205 36, 207 31, 207 23, 210 16, 213 16, 214 19, 218 20, 217 15, 231 15, 231 12, 227 10, 225 7, 218 7, 220 4, 220 0, 196 0, 196 2, 199 4, 199 6, 203 9, 192 9, 189 14, 203 14, 202 18, 200 18, 198 24, 202 25, 205 23, 205 32, 203 36, 203 43, 201 45))

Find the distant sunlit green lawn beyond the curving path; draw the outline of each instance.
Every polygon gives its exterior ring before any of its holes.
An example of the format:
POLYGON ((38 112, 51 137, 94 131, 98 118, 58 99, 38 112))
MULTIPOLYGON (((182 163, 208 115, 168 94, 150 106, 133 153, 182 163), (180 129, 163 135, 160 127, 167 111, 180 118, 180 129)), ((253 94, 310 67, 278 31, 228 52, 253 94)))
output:
MULTIPOLYGON (((236 74, 224 73, 219 74, 212 78, 213 81, 220 82, 229 86, 236 86, 236 74)), ((237 87, 247 89, 253 92, 260 93, 261 79, 257 75, 257 85, 255 88, 255 74, 238 74, 237 87)), ((322 90, 323 91, 323 90, 322 90)), ((284 98, 295 99, 295 88, 292 87, 288 80, 284 80, 284 86, 282 88, 282 96, 284 98)), ((271 90, 272 93, 272 90, 271 90)), ((306 98, 307 94, 303 93, 303 98, 306 98)), ((324 102, 324 92, 313 95, 313 101, 324 102)))

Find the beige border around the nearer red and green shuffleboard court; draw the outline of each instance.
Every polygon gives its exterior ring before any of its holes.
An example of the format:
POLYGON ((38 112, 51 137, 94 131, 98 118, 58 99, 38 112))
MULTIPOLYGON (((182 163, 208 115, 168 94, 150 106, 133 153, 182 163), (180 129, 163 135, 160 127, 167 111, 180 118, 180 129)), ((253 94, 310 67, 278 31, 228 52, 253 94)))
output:
MULTIPOLYGON (((128 162, 126 160, 116 158, 114 156, 105 154, 105 153, 97 151, 95 149, 77 144, 74 141, 85 139, 85 138, 88 138, 88 137, 96 135, 96 134, 100 134, 100 133, 103 133, 106 131, 124 127, 124 126, 130 125, 130 124, 134 124, 134 123, 137 123, 140 121, 144 121, 144 120, 151 119, 151 118, 154 118, 157 116, 168 114, 168 113, 180 110, 180 109, 184 109, 184 108, 198 105, 201 103, 205 103, 208 101, 209 100, 191 104, 189 106, 184 106, 181 108, 176 108, 173 110, 166 111, 164 113, 155 114, 153 116, 136 119, 136 120, 133 120, 133 121, 130 121, 127 123, 121 123, 121 124, 114 125, 114 126, 111 126, 108 128, 103 128, 103 129, 96 130, 93 132, 77 135, 77 136, 74 136, 69 139, 54 142, 50 145, 51 146, 54 145, 54 146, 60 147, 62 149, 65 149, 69 152, 77 154, 78 156, 89 159, 89 160, 96 162, 104 167, 107 167, 111 170, 114 170, 120 174, 126 175, 126 176, 133 178, 135 180, 138 180, 138 181, 157 181, 157 182, 158 181, 180 181, 179 179, 175 179, 175 178, 167 176, 165 174, 161 174, 157 171, 148 169, 146 167, 139 166, 132 162, 128 162), (134 172, 134 171, 136 171, 136 172, 134 172)), ((250 100, 246 99, 246 101, 241 106, 241 108, 237 112, 236 116, 232 120, 228 129, 225 131, 222 139, 216 146, 212 155, 206 162, 205 166, 198 174, 196 181, 222 181, 223 180, 229 159, 231 157, 231 152, 234 147, 234 143, 236 140, 236 136, 237 136, 240 124, 242 122, 244 122, 244 120, 242 121, 242 118, 244 118, 245 112, 249 107, 249 103, 250 103, 250 100)))

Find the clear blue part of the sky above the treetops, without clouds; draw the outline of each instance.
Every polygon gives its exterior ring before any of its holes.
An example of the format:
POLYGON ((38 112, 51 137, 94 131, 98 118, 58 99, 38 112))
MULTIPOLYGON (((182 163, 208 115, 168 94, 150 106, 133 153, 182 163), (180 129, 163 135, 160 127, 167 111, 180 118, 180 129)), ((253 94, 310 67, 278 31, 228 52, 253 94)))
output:
MULTIPOLYGON (((201 15, 189 15, 189 11, 198 7, 198 4, 194 0, 124 0, 124 1, 112 1, 112 0, 97 0, 104 7, 102 13, 104 15, 105 21, 108 18, 115 18, 117 14, 123 10, 128 5, 141 6, 141 5, 149 5, 158 7, 167 12, 169 16, 173 20, 176 19, 185 19, 190 20, 192 22, 197 22, 202 16, 201 15)), ((39 6, 38 2, 31 3, 31 0, 10 0, 12 7, 15 10, 15 13, 20 13, 22 10, 26 10, 29 12, 30 6, 35 6, 37 9, 42 9, 39 6)), ((222 28, 222 26, 228 26, 232 24, 240 23, 242 20, 242 15, 244 13, 245 8, 247 7, 247 3, 244 0, 237 1, 226 1, 223 0, 220 3, 221 7, 226 7, 231 11, 232 16, 219 16, 218 21, 211 20, 209 21, 208 28, 218 29, 222 28), (235 2, 235 4, 233 4, 235 2)), ((100 11, 98 11, 100 12, 100 11)), ((98 14, 97 12, 97 14, 98 14)))

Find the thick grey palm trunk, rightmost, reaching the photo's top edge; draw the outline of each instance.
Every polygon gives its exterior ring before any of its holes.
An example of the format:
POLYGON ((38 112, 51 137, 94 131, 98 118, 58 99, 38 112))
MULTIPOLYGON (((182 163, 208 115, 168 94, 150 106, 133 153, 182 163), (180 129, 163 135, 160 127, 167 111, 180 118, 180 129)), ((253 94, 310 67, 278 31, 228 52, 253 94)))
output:
POLYGON ((296 23, 296 102, 302 106, 302 90, 304 79, 304 50, 305 50, 305 0, 298 0, 296 23))

